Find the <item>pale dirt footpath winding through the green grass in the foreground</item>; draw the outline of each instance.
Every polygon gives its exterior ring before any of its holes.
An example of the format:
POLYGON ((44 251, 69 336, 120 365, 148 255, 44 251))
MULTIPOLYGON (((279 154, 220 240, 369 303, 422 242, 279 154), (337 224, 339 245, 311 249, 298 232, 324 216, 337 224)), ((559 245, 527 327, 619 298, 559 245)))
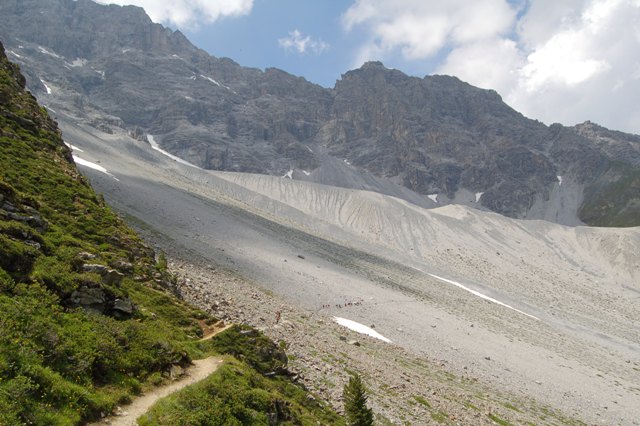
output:
POLYGON ((159 399, 203 380, 216 371, 222 362, 223 360, 220 357, 209 357, 196 360, 193 362, 194 366, 189 368, 186 375, 180 380, 155 388, 141 397, 134 399, 131 404, 122 407, 122 411, 115 416, 108 417, 98 423, 90 423, 90 425, 135 426, 137 424, 136 419, 146 413, 153 404, 158 402, 159 399))

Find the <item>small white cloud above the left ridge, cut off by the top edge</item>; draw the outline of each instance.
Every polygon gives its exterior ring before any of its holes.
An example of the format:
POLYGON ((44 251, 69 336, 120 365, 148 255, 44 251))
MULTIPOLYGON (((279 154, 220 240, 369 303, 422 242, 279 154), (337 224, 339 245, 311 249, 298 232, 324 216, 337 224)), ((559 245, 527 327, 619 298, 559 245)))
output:
POLYGON ((251 12, 253 0, 102 0, 100 3, 141 6, 154 22, 197 27, 225 16, 251 12))

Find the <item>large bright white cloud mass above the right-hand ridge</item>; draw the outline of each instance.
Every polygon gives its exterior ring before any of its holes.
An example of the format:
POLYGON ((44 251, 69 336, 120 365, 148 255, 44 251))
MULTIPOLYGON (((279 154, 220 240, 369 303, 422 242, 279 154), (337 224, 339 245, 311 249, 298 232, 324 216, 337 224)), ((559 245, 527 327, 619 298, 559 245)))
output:
MULTIPOLYGON (((428 73, 497 90, 547 123, 640 133, 640 1, 357 0, 343 15, 364 60, 444 58, 428 73)), ((396 64, 398 65, 398 64, 396 64)), ((400 66, 402 64, 399 64, 400 66)))

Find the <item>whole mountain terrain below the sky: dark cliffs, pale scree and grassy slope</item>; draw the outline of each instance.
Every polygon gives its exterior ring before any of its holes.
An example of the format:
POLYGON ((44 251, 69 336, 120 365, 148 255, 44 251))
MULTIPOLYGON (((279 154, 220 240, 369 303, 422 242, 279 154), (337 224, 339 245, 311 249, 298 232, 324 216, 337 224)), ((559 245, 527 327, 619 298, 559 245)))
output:
POLYGON ((141 424, 341 424, 358 372, 379 424, 637 425, 638 136, 379 62, 245 68, 136 7, 0 16, 0 424, 230 354, 141 424))

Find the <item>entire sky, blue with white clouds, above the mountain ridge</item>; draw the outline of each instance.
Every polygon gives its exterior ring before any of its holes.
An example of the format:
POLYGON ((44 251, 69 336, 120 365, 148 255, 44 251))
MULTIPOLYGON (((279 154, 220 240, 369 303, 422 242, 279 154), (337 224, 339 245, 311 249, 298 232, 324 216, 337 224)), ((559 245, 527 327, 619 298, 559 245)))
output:
MULTIPOLYGON (((546 124, 640 134, 640 0, 106 0, 324 87, 378 60, 455 75, 546 124)), ((105 1, 105 2, 106 2, 105 1)))

